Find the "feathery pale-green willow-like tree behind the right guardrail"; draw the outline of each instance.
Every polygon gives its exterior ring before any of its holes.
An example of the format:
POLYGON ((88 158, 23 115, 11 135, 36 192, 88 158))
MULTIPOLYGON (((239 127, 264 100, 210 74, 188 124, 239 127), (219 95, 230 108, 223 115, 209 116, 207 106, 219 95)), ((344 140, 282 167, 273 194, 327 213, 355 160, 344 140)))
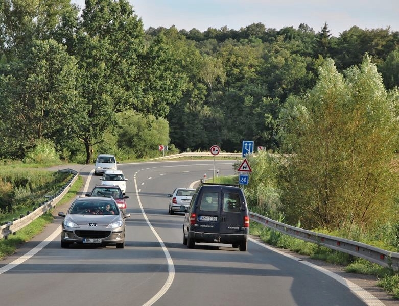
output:
POLYGON ((299 111, 285 112, 284 136, 297 139, 296 155, 279 179, 284 211, 294 224, 367 227, 383 221, 393 207, 397 92, 385 91, 368 56, 345 74, 327 60, 309 94, 291 101, 299 111))

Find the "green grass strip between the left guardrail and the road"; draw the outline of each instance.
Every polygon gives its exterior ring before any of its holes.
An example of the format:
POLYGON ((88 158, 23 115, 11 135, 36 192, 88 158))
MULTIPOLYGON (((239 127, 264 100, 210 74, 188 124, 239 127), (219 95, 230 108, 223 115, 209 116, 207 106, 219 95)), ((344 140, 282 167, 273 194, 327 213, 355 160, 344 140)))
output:
MULTIPOLYGON (((81 176, 78 177, 78 180, 71 186, 68 192, 63 196, 57 205, 62 205, 71 199, 75 198, 79 191, 83 187, 83 179, 81 176)), ((28 226, 22 228, 17 231, 15 235, 9 235, 8 239, 0 239, 0 259, 4 259, 7 256, 13 254, 18 246, 22 243, 31 240, 37 234, 41 233, 46 224, 53 222, 54 218, 51 214, 51 211, 40 216, 28 226)))

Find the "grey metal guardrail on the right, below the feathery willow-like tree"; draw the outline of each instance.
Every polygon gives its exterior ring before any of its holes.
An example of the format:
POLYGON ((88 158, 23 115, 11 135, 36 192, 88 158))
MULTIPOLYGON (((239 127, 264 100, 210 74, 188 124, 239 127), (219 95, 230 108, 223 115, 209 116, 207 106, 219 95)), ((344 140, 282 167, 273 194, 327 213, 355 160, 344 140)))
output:
POLYGON ((249 219, 291 237, 360 257, 380 266, 392 268, 396 271, 399 270, 399 253, 390 252, 345 238, 303 230, 302 228, 274 221, 253 212, 249 212, 249 219))

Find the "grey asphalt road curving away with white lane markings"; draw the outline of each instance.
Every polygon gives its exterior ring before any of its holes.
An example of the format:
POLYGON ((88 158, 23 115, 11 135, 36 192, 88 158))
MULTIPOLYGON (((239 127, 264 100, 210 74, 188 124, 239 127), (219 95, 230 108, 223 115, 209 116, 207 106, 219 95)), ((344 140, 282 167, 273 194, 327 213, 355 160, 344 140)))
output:
MULTIPOLYGON (((215 168, 209 160, 120 164, 129 179, 125 248, 61 249, 57 217, 0 262, 0 304, 383 305, 358 287, 350 290, 341 278, 253 239, 247 252, 220 244, 184 246, 183 215, 168 214, 168 194, 191 187, 205 173, 212 182, 214 170, 232 175, 232 163, 217 160, 215 168)), ((85 189, 101 183, 92 170, 92 165, 80 169, 85 189)), ((56 208, 55 214, 66 209, 56 208)))

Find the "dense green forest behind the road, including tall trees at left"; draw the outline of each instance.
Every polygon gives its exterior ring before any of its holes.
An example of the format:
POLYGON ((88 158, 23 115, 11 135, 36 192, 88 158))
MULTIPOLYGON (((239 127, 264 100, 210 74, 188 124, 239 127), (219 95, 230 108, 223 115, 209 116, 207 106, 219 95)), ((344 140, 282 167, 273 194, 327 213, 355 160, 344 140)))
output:
POLYGON ((153 156, 159 144, 234 152, 248 139, 278 151, 281 111, 327 59, 344 72, 367 54, 387 90, 399 84, 389 28, 145 30, 126 0, 87 0, 81 13, 67 0, 2 1, 0 16, 3 159, 42 141, 80 163, 153 156))

